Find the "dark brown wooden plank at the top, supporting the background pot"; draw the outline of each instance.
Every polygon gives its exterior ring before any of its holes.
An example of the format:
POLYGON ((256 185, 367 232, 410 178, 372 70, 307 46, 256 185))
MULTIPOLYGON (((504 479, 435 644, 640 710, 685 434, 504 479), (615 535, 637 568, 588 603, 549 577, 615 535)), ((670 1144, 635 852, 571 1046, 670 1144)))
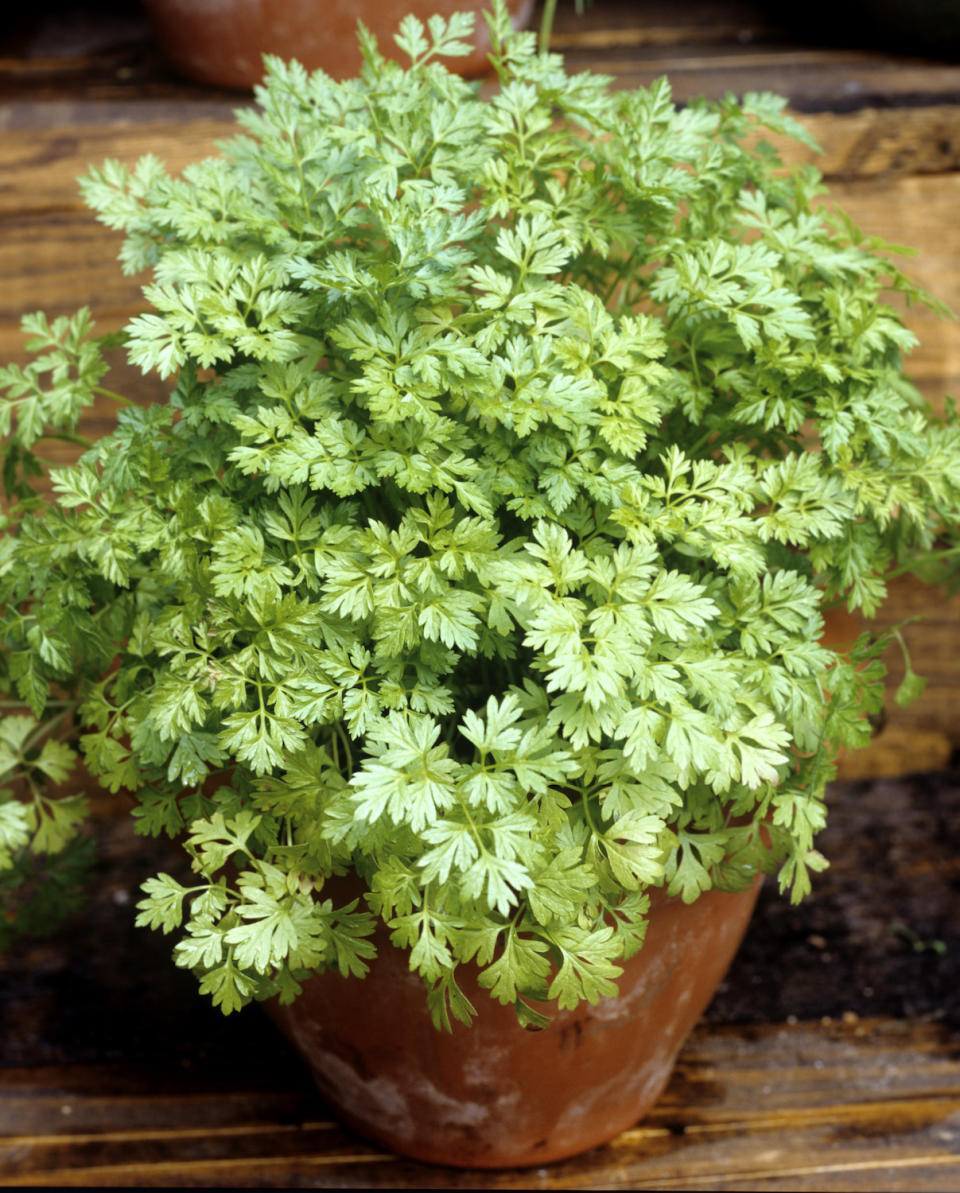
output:
MULTIPOLYGON (((0 57, 7 98, 29 103, 82 95, 119 105, 130 98, 171 103, 223 95, 178 79, 142 18, 137 24, 126 16, 122 29, 117 20, 116 13, 85 19, 80 8, 73 27, 64 27, 38 13, 29 52, 0 57)), ((767 89, 789 94, 804 110, 849 111, 874 103, 955 101, 960 95, 960 66, 865 50, 855 30, 847 47, 815 47, 810 35, 778 19, 769 6, 739 0, 605 0, 582 16, 560 5, 555 30, 555 44, 572 69, 600 69, 628 86, 670 74, 685 100, 767 89)))

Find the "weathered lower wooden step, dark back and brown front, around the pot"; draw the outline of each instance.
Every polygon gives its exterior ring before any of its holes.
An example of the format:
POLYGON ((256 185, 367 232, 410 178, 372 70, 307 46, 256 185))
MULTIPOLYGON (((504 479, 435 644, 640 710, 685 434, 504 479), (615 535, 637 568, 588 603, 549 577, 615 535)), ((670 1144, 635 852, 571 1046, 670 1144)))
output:
POLYGON ((332 1120, 255 1008, 223 1019, 132 927, 163 842, 104 826, 83 932, 0 960, 0 1183, 954 1189, 960 1182, 960 774, 838 785, 831 869, 764 889, 664 1098, 587 1156, 428 1168, 332 1120), (89 940, 99 942, 92 951, 89 940), (942 951, 941 951, 942 946, 942 951))

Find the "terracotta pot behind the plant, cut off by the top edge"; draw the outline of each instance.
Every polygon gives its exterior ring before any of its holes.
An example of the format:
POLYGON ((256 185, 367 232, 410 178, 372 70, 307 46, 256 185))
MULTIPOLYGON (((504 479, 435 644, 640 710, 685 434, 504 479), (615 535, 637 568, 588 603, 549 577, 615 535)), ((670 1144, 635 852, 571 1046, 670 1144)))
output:
MULTIPOLYGON (((377 36, 382 54, 401 57, 394 33, 409 12, 423 21, 434 13, 475 12, 475 52, 444 61, 464 75, 487 69, 490 43, 479 13, 488 0, 144 0, 144 5, 171 64, 221 87, 253 87, 264 74, 264 54, 348 79, 360 69, 357 21, 377 36)), ((533 0, 512 0, 508 7, 519 29, 529 19, 533 0)))

